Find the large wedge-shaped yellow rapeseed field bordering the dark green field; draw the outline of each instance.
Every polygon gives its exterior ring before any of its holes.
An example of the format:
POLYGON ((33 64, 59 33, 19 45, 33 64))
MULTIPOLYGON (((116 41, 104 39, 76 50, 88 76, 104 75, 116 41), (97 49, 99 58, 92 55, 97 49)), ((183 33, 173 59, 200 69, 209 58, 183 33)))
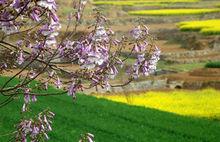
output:
POLYGON ((150 91, 129 95, 97 95, 97 97, 180 115, 220 118, 220 91, 214 89, 200 91, 150 91))

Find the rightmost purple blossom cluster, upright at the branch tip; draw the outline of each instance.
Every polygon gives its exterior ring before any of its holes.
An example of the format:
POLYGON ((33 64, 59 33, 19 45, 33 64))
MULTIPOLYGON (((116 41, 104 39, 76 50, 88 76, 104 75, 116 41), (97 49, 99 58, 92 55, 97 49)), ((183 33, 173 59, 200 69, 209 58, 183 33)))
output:
POLYGON ((160 57, 160 50, 156 45, 149 43, 149 28, 145 25, 138 26, 131 31, 135 39, 133 51, 137 54, 137 60, 128 73, 137 79, 141 74, 148 76, 156 70, 157 62, 160 57))

